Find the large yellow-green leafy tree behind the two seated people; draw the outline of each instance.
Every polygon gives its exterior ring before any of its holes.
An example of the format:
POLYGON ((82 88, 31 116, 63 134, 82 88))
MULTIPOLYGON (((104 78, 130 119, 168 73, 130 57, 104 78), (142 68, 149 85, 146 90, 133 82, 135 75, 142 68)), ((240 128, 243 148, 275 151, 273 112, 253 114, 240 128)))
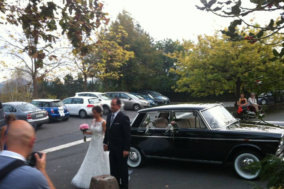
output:
MULTIPOLYGON (((177 92, 193 92, 201 97, 210 94, 235 92, 236 100, 246 83, 243 79, 250 71, 274 73, 267 64, 272 57, 271 47, 249 44, 244 41, 227 41, 225 35, 199 36, 198 42, 184 41, 184 50, 172 53, 177 59, 173 72, 180 75, 175 88, 177 92)), ((283 67, 278 73, 283 73, 283 67)), ((253 90, 253 88, 248 89, 253 90)))

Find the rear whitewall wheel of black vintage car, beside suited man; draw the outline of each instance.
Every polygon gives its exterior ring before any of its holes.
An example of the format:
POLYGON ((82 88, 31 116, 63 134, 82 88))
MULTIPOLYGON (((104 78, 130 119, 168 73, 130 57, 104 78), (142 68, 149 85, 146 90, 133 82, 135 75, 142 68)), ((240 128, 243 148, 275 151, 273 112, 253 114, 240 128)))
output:
POLYGON ((130 147, 127 164, 129 167, 141 167, 145 162, 145 157, 140 150, 135 147, 130 147))

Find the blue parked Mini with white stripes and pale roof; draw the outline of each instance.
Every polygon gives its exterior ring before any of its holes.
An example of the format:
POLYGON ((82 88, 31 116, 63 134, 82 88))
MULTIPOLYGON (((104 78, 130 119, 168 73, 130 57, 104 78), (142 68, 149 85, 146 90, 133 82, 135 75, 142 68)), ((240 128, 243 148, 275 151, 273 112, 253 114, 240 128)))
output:
POLYGON ((67 121, 69 119, 69 110, 61 100, 56 99, 36 99, 30 102, 41 110, 46 110, 49 116, 49 122, 56 119, 67 121))

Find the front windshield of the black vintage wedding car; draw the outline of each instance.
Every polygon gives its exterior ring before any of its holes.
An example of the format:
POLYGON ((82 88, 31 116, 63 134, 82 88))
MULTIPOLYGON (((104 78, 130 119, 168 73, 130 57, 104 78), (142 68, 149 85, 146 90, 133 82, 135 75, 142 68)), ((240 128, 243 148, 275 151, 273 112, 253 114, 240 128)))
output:
POLYGON ((202 114, 211 128, 221 128, 235 120, 233 115, 222 105, 204 110, 202 114))

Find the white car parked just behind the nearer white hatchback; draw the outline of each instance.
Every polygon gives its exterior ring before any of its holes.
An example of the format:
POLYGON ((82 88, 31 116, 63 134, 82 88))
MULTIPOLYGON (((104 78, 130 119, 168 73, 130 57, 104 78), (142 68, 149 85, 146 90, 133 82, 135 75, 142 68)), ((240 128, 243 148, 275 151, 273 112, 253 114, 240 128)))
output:
MULTIPOLYGON (((76 92, 75 97, 96 97, 101 101, 103 114, 110 113, 110 103, 112 97, 102 92, 76 92)), ((124 109, 124 104, 121 105, 121 110, 124 109)))

